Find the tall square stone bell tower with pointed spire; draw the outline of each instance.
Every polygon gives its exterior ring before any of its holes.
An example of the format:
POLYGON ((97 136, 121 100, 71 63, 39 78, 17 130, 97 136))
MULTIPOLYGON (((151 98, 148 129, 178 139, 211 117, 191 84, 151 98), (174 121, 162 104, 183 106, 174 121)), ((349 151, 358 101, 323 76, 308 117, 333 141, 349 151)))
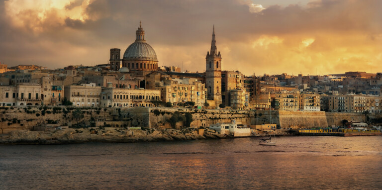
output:
POLYGON ((205 57, 205 86, 208 99, 215 101, 215 106, 222 103, 221 100, 221 55, 216 48, 215 26, 212 31, 211 50, 205 57))

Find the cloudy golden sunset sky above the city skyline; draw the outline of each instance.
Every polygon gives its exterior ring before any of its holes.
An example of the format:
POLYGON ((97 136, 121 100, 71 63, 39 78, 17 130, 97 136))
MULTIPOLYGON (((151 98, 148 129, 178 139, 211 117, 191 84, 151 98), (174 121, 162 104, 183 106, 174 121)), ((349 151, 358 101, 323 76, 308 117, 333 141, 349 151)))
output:
POLYGON ((106 64, 142 21, 159 66, 245 75, 382 72, 382 0, 0 0, 0 62, 106 64))

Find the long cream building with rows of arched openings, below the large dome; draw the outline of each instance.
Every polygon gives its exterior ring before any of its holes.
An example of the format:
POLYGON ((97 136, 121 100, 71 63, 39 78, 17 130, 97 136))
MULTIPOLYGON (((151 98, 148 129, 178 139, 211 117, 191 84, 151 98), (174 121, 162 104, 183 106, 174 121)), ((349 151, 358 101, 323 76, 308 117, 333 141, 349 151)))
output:
POLYGON ((152 100, 161 100, 159 90, 103 88, 101 107, 154 106, 152 100))

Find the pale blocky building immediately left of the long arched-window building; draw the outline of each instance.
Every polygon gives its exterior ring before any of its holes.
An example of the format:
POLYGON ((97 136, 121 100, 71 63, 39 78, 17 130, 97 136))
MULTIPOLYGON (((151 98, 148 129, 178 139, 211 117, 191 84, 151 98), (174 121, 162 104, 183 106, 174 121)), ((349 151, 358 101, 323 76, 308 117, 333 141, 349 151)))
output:
POLYGON ((95 83, 65 86, 64 96, 74 106, 99 106, 101 87, 95 83))

